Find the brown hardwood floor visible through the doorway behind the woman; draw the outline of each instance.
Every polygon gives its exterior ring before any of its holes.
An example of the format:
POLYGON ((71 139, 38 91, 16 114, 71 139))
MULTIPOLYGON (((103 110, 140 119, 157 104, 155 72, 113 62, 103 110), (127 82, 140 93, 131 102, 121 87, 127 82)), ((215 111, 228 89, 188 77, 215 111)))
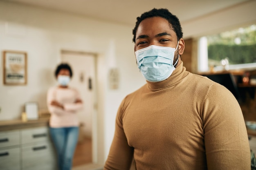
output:
POLYGON ((74 153, 73 167, 92 163, 92 139, 80 141, 74 153))

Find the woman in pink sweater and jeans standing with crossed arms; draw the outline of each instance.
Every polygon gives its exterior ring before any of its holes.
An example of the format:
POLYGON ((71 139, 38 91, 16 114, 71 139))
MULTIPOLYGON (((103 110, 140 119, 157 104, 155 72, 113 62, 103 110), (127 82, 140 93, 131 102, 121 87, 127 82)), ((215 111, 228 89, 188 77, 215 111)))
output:
POLYGON ((83 107, 80 95, 68 83, 72 70, 68 64, 60 64, 55 71, 58 86, 47 93, 47 106, 51 113, 50 135, 58 155, 59 170, 71 170, 74 150, 79 135, 76 111, 83 107))

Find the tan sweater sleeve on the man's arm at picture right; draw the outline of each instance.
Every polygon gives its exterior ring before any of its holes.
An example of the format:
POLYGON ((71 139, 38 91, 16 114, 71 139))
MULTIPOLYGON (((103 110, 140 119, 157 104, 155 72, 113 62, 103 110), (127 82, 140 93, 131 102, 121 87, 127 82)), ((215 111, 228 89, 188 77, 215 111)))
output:
POLYGON ((242 111, 236 98, 213 84, 202 109, 208 170, 250 170, 250 149, 242 111))

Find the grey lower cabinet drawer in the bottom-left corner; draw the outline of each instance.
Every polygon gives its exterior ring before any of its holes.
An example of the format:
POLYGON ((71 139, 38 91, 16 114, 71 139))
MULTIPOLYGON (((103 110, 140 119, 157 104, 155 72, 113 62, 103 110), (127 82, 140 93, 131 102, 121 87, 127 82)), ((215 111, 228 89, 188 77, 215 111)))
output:
POLYGON ((20 148, 0 150, 0 170, 20 170, 20 148))

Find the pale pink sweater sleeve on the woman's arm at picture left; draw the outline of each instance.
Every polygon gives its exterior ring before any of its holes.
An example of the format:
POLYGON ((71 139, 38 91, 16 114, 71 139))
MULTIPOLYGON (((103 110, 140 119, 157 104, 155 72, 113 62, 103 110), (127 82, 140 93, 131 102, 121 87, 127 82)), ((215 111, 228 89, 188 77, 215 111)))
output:
POLYGON ((56 89, 50 88, 47 92, 47 107, 49 112, 51 114, 56 114, 59 116, 66 114, 66 112, 62 108, 51 105, 51 102, 55 100, 55 95, 56 95, 56 89))

